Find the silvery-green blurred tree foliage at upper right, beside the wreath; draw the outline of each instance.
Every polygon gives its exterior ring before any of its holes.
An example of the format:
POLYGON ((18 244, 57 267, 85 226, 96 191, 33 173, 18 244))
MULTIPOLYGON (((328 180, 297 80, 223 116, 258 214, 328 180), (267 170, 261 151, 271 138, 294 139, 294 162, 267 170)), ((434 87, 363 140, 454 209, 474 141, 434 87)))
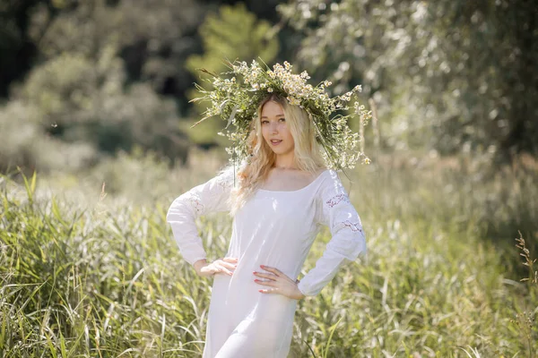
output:
POLYGON ((279 9, 305 35, 298 59, 309 72, 342 81, 337 92, 363 84, 386 145, 538 151, 534 2, 307 0, 279 9))

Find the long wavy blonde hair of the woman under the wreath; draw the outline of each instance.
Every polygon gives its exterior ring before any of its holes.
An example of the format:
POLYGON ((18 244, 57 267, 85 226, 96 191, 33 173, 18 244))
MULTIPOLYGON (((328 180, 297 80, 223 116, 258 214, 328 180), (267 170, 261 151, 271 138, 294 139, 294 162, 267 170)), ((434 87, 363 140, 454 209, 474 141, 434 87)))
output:
POLYGON ((262 110, 269 101, 282 106, 286 124, 293 137, 294 161, 299 170, 315 174, 318 170, 326 168, 325 160, 321 156, 320 147, 316 141, 316 128, 312 118, 304 109, 291 105, 286 98, 271 94, 260 102, 256 111, 257 116, 250 123, 251 132, 247 138, 247 145, 251 157, 244 166, 239 168, 239 185, 232 190, 230 195, 231 215, 235 215, 248 198, 260 188, 274 166, 276 155, 265 142, 261 125, 262 110))

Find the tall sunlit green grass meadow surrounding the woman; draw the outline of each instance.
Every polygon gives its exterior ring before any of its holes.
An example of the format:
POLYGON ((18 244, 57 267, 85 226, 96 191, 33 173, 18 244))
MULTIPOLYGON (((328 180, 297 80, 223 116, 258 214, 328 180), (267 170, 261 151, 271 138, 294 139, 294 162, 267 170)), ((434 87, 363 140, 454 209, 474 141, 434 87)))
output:
MULTIPOLYGON (((212 279, 182 260, 165 221, 222 163, 195 162, 124 156, 78 177, 3 176, 0 356, 200 357, 212 279)), ((291 357, 538 356, 533 159, 383 157, 350 176, 369 255, 299 301, 291 357)), ((198 227, 220 257, 230 218, 198 227)))

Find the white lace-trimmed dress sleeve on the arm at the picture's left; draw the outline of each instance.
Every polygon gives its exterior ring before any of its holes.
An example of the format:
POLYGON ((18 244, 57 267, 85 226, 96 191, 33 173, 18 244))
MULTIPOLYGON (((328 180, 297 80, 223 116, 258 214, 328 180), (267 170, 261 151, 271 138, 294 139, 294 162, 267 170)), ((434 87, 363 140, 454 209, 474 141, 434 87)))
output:
POLYGON ((195 219, 211 212, 230 210, 229 198, 232 187, 233 170, 229 169, 207 183, 183 193, 170 205, 166 221, 172 226, 179 251, 189 264, 206 258, 195 219))

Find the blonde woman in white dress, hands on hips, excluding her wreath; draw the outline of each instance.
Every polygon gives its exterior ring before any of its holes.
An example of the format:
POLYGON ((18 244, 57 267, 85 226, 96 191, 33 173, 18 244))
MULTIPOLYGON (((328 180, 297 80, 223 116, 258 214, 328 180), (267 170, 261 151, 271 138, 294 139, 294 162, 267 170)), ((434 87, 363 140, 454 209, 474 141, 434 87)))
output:
POLYGON ((270 94, 252 125, 252 155, 238 175, 227 170, 196 186, 167 216, 185 260, 213 277, 204 358, 286 357, 298 300, 366 252, 360 217, 326 169, 307 111, 270 94), (195 218, 212 211, 229 211, 233 227, 225 257, 207 262, 195 218), (332 239, 299 281, 321 226, 332 239))

